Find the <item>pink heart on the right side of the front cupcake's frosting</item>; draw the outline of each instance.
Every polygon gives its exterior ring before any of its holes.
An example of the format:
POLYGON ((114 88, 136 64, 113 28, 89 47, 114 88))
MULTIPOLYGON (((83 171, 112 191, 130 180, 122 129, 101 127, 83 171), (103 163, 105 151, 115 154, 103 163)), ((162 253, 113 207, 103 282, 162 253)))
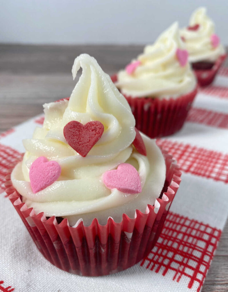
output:
POLYGON ((122 163, 117 169, 103 173, 103 182, 108 189, 116 188, 128 194, 141 193, 141 181, 138 171, 129 163, 122 163))

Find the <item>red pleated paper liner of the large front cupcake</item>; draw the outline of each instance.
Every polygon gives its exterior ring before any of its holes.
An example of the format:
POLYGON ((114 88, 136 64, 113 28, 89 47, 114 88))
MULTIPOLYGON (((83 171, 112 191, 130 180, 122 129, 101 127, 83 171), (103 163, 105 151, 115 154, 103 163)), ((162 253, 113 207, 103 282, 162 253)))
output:
POLYGON ((181 172, 172 156, 167 151, 162 152, 166 180, 160 198, 154 206, 147 205, 145 213, 136 210, 134 218, 123 214, 120 223, 108 218, 106 225, 100 225, 95 218, 89 226, 79 220, 72 227, 66 218, 58 224, 54 216, 47 219, 43 212, 36 214, 33 208, 22 203, 21 195, 13 187, 13 168, 6 176, 6 193, 37 248, 50 263, 83 276, 112 274, 147 256, 160 235, 181 181, 181 172))

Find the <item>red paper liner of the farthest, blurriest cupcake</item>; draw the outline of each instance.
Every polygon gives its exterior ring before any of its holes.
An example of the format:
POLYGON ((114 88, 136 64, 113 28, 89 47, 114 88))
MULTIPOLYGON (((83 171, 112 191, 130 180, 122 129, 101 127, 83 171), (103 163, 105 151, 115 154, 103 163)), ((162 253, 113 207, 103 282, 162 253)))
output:
POLYGON ((211 69, 194 69, 195 75, 200 86, 207 86, 213 82, 215 76, 221 67, 222 63, 226 60, 227 54, 221 55, 211 69))

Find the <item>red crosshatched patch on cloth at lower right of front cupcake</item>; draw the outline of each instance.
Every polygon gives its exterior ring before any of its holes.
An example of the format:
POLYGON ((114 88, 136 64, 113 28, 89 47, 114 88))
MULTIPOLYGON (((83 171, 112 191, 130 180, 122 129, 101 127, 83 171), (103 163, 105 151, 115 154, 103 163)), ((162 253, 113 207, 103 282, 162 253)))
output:
POLYGON ((198 283, 200 291, 210 267, 221 230, 169 212, 156 246, 141 266, 162 272, 173 271, 173 280, 189 278, 188 288, 198 283))

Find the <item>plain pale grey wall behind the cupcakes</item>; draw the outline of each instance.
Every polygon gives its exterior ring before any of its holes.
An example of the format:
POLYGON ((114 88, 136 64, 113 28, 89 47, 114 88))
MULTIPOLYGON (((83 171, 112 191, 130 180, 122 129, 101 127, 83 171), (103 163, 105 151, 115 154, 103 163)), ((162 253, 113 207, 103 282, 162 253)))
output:
POLYGON ((228 0, 3 0, 0 42, 147 44, 175 20, 187 25, 199 6, 228 45, 228 0))

